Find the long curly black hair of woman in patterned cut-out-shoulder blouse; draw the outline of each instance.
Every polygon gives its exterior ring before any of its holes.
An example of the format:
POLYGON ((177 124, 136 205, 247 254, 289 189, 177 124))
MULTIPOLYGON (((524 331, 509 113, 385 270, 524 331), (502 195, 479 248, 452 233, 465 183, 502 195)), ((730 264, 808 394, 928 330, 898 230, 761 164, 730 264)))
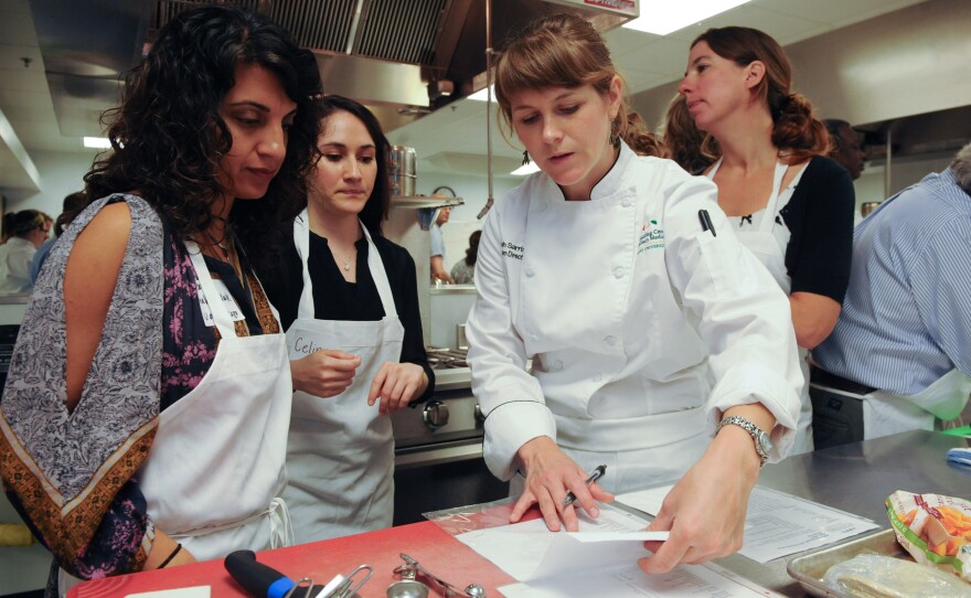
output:
POLYGON ((220 103, 243 64, 274 73, 297 114, 266 197, 235 202, 232 227, 245 246, 258 246, 290 225, 303 206, 305 178, 318 157, 317 61, 267 17, 227 4, 179 13, 126 75, 120 106, 102 119, 114 151, 99 156, 84 177, 86 203, 134 191, 178 238, 206 229, 213 203, 224 192, 218 157, 233 143, 220 103))

